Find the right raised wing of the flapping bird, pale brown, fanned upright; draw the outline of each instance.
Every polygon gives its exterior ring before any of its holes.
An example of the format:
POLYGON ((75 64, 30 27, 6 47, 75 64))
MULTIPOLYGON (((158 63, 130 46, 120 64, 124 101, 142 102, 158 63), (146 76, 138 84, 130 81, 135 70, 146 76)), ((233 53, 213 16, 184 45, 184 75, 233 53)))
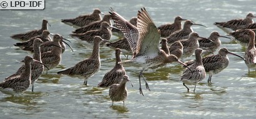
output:
POLYGON ((137 28, 139 40, 137 42, 136 55, 148 55, 159 51, 160 32, 147 11, 141 9, 137 14, 137 28))

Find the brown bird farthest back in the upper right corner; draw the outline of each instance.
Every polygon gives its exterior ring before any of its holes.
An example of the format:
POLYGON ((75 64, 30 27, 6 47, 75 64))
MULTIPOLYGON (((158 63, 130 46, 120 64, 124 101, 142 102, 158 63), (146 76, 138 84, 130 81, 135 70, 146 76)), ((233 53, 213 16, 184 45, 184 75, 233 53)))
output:
POLYGON ((249 13, 246 15, 245 19, 233 19, 227 22, 215 22, 214 25, 219 27, 225 27, 232 30, 245 29, 248 25, 254 23, 254 19, 256 16, 254 14, 249 13))

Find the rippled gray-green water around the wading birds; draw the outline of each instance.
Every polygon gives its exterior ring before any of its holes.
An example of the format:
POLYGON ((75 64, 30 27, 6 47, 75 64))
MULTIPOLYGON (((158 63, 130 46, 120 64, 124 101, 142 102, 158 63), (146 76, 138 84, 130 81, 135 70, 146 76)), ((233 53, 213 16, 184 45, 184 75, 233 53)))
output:
MULTIPOLYGON (((126 66, 126 73, 134 87, 127 84, 129 96, 112 106, 108 88, 99 88, 104 74, 114 67, 114 50, 106 46, 101 48, 101 69, 83 86, 83 80, 56 74, 64 68, 74 66, 91 55, 92 50, 82 46, 68 35, 74 28, 62 24, 61 19, 89 14, 99 8, 109 12, 112 7, 124 18, 137 15, 145 7, 159 26, 173 22, 174 17, 181 15, 207 28, 193 26, 202 37, 209 37, 216 30, 225 35, 214 22, 235 18, 244 18, 253 12, 255 1, 46 1, 46 8, 37 11, 0 11, 0 77, 10 76, 21 66, 19 61, 26 55, 32 55, 13 46, 19 42, 10 35, 40 29, 42 19, 47 19, 52 33, 60 33, 71 40, 74 53, 67 48, 62 55, 61 65, 43 74, 35 84, 34 93, 31 87, 19 97, 0 93, 0 118, 255 118, 256 116, 256 81, 255 72, 248 73, 244 61, 229 55, 230 64, 219 74, 212 77, 212 86, 208 86, 207 77, 197 86, 196 92, 187 92, 179 81, 184 68, 179 64, 169 64, 157 71, 145 71, 151 91, 142 89, 145 96, 139 94, 139 69, 126 66)), ((256 14, 255 14, 256 15, 256 14)), ((117 37, 112 37, 111 41, 117 37)), ((227 38, 221 38, 222 47, 243 56, 245 47, 227 38)), ((194 56, 187 59, 194 59, 194 56)), ((122 60, 126 60, 122 56, 122 60)), ((190 86, 191 87, 191 86, 190 86)), ((193 87, 193 86, 192 86, 193 87)), ((191 88, 192 88, 191 87, 191 88)))

